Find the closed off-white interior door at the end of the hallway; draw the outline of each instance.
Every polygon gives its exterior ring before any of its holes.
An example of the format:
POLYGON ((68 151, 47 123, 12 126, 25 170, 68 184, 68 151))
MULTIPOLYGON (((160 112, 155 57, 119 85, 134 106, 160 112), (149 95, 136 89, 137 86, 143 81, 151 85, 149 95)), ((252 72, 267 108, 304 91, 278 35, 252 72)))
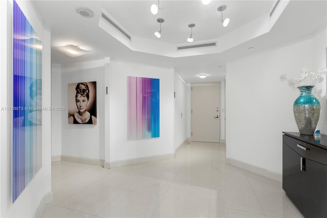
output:
POLYGON ((220 140, 220 83, 192 85, 192 141, 220 140))

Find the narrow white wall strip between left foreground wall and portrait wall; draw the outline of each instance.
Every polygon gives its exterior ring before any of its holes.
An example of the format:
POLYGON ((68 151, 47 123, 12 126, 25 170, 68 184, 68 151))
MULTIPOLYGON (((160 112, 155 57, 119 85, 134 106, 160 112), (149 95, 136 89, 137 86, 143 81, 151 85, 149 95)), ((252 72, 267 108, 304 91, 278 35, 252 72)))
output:
MULTIPOLYGON (((60 107, 61 104, 61 65, 52 64, 51 68, 51 106, 60 107)), ((62 111, 51 113, 51 151, 52 156, 61 156, 61 114, 62 111)))

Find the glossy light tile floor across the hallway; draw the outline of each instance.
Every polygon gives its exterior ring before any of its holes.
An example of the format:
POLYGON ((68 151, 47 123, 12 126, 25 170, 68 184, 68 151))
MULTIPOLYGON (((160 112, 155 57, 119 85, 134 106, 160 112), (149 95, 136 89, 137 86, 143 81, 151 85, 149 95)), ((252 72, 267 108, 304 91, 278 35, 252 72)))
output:
POLYGON ((53 162, 42 217, 303 217, 282 183, 225 157, 225 144, 190 142, 175 159, 112 169, 53 162))

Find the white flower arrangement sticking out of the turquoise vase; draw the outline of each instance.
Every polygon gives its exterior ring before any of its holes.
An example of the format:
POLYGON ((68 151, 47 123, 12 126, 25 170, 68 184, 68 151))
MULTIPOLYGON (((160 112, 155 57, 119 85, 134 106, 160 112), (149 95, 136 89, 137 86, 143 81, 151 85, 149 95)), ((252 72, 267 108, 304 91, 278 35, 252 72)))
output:
POLYGON ((315 72, 309 71, 309 68, 302 67, 300 69, 299 79, 288 79, 286 74, 281 75, 280 79, 282 81, 287 80, 288 85, 295 89, 299 86, 315 85, 316 83, 322 82, 324 79, 323 75, 327 74, 327 68, 321 68, 318 72, 319 74, 317 75, 315 72))

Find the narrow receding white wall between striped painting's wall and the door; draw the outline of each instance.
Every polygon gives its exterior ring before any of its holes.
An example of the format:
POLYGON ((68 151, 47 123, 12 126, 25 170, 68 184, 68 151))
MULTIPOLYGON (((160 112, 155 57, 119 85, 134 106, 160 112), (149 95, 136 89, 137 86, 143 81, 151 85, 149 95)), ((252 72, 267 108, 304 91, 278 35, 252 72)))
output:
POLYGON ((178 146, 185 142, 187 136, 187 102, 186 102, 187 86, 185 81, 178 75, 174 74, 174 151, 178 146))

